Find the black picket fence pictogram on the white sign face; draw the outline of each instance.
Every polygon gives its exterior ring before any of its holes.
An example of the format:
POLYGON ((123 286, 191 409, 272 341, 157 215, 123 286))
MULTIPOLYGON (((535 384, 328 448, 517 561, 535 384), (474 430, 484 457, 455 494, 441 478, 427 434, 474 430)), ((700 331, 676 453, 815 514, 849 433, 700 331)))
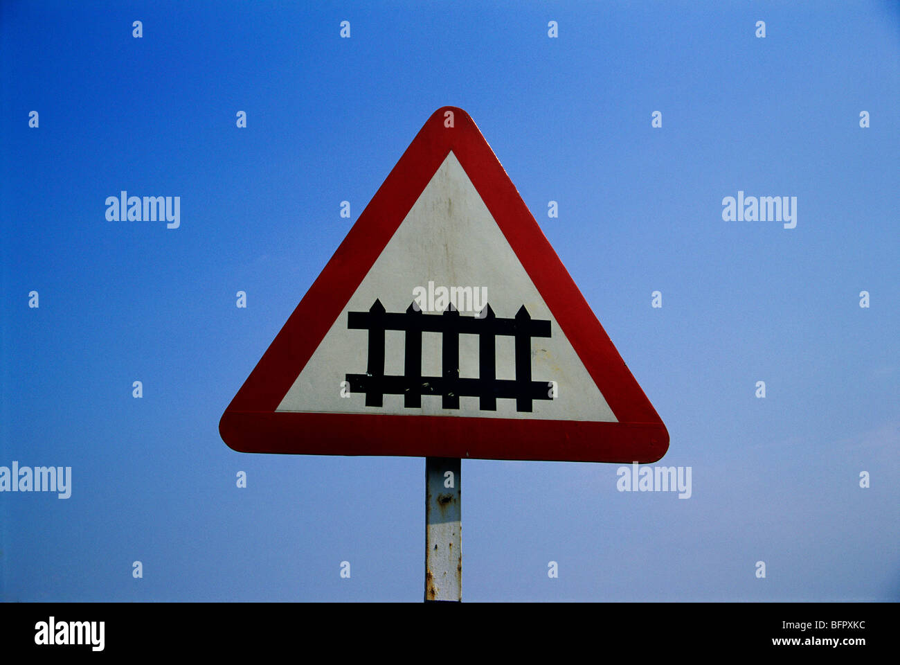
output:
POLYGON ((446 409, 458 409, 459 398, 478 397, 482 411, 496 411, 498 399, 515 399, 516 410, 531 411, 536 399, 553 399, 548 381, 531 380, 531 340, 550 337, 550 322, 533 320, 525 305, 513 319, 499 319, 491 305, 482 316, 461 316, 448 308, 443 314, 423 314, 415 304, 403 314, 384 311, 375 300, 368 312, 348 312, 347 328, 369 332, 368 362, 365 374, 347 374, 352 392, 365 393, 366 406, 382 406, 383 396, 402 395, 403 405, 417 408, 423 395, 441 396, 446 409), (384 374, 384 332, 406 333, 402 375, 384 374), (441 333, 440 377, 422 376, 422 333, 441 333), (459 376, 459 336, 478 335, 478 378, 459 376), (516 378, 497 378, 496 338, 516 338, 516 378))

